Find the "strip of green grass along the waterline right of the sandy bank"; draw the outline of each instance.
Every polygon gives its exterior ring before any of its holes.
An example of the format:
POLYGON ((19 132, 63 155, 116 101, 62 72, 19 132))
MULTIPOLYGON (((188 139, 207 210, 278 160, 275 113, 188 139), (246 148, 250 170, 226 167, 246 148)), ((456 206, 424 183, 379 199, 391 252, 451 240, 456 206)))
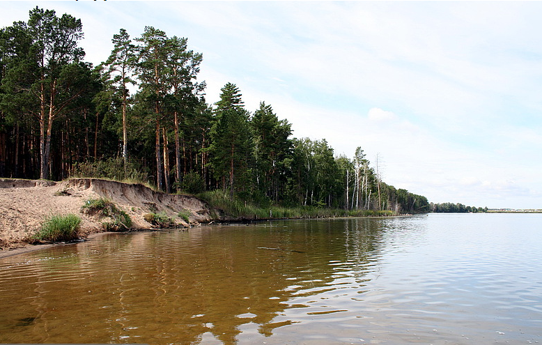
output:
POLYGON ((283 218, 324 218, 324 217, 369 217, 391 216, 391 210, 342 210, 338 208, 317 208, 298 206, 287 208, 270 206, 266 208, 254 206, 249 202, 231 200, 223 190, 212 190, 198 194, 197 197, 208 202, 211 208, 224 210, 231 217, 247 220, 283 219, 283 218))

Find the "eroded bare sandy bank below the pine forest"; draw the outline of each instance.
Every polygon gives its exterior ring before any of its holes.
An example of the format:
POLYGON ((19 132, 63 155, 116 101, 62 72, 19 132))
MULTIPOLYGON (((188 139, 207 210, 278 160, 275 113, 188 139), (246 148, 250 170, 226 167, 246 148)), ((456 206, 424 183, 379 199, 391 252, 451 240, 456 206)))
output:
POLYGON ((124 210, 134 229, 151 229, 145 213, 164 212, 179 227, 189 227, 212 220, 207 204, 196 197, 155 192, 141 184, 107 181, 99 178, 72 178, 53 182, 0 178, 0 257, 9 250, 28 247, 33 236, 49 215, 74 213, 82 219, 81 235, 102 232, 97 216, 82 213, 88 199, 106 198, 124 210), (189 224, 178 213, 189 213, 189 224))

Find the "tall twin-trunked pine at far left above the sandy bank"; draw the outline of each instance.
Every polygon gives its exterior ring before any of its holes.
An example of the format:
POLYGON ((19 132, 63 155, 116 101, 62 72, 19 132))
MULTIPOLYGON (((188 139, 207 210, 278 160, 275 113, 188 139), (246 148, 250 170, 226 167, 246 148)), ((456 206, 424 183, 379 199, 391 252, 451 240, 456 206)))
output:
POLYGON ((54 10, 36 7, 29 12, 28 23, 15 22, 8 31, 22 33, 24 39, 10 40, 13 45, 23 45, 13 48, 23 55, 12 61, 6 83, 11 92, 22 96, 19 100, 31 98, 31 105, 37 103, 27 111, 38 118, 40 126, 40 178, 49 178, 54 120, 65 114, 86 88, 70 76, 70 70, 77 69, 84 56, 77 45, 83 38, 81 20, 67 14, 57 17, 54 10))

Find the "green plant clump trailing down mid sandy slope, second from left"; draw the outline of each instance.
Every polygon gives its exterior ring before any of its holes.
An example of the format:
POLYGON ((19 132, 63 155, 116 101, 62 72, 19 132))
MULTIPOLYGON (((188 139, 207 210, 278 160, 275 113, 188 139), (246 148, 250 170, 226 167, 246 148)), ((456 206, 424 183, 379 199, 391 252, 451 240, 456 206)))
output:
POLYGON ((125 211, 120 210, 109 199, 88 199, 82 206, 84 212, 99 217, 109 217, 112 222, 103 222, 102 226, 107 231, 126 231, 132 228, 132 218, 125 211))

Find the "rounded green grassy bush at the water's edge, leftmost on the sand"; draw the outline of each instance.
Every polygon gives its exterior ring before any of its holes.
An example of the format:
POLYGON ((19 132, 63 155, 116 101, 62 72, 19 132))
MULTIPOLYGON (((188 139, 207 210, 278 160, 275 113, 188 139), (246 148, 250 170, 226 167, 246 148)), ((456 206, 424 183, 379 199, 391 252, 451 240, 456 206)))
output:
POLYGON ((77 215, 51 215, 42 223, 42 227, 33 239, 53 242, 77 239, 81 218, 77 215))

